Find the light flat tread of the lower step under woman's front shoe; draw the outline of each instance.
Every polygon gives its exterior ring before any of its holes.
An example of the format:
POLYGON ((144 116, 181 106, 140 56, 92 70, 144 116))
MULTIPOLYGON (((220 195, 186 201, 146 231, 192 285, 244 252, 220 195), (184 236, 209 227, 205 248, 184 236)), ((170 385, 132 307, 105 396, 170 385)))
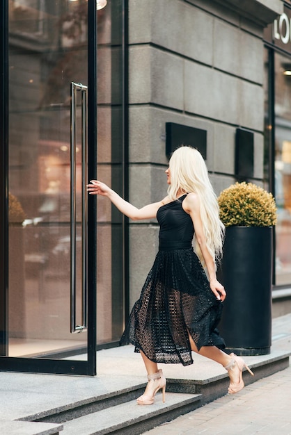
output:
POLYGON ((166 393, 166 403, 158 393, 155 403, 139 406, 136 400, 103 409, 63 423, 62 435, 143 434, 200 407, 200 394, 166 393))

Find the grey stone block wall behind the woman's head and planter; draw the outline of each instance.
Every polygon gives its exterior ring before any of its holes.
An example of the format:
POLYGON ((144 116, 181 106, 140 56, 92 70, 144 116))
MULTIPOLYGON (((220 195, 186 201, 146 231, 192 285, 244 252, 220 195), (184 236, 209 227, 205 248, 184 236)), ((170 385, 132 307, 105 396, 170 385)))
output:
MULTIPOLYGON (((207 131, 207 167, 217 194, 234 181, 235 129, 253 131, 254 177, 262 179, 262 31, 282 10, 280 0, 129 0, 133 204, 166 195, 166 122, 207 131)), ((157 223, 131 222, 129 235, 132 306, 157 252, 157 223)))

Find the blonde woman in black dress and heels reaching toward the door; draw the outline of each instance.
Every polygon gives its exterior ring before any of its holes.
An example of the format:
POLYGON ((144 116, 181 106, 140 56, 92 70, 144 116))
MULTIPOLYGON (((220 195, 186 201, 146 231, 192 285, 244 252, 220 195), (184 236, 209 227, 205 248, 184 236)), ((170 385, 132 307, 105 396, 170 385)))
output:
POLYGON ((168 195, 140 209, 100 181, 87 186, 91 195, 108 197, 132 220, 157 217, 160 224, 159 252, 120 340, 135 346, 148 372, 138 404, 154 403, 160 389, 164 402, 166 379, 157 363, 187 366, 193 363, 191 351, 228 370, 228 393, 244 388, 244 367, 251 372, 242 358, 221 350, 225 345, 217 324, 226 291, 217 281, 215 260, 221 256, 224 227, 203 157, 194 148, 180 147, 166 174, 168 195))

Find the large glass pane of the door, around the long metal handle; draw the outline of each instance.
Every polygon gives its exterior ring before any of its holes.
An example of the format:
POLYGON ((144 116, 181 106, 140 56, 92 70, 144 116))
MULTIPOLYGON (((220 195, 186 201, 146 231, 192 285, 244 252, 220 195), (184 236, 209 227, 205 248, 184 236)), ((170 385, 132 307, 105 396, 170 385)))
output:
POLYGON ((10 210, 10 356, 86 351, 86 332, 70 334, 70 82, 87 83, 87 8, 87 1, 10 0, 9 190, 23 210, 10 210))

